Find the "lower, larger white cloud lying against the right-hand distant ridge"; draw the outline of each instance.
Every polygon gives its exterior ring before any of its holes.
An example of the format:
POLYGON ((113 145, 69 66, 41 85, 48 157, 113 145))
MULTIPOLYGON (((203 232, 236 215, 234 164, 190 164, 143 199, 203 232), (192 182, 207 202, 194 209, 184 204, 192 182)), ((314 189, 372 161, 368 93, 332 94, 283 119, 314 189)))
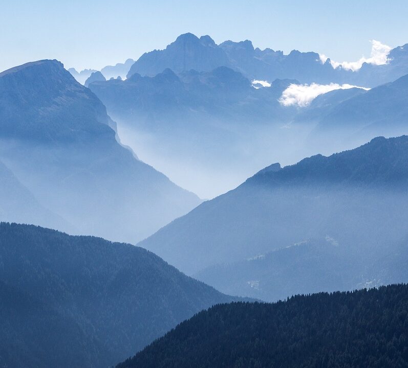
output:
POLYGON ((349 88, 362 88, 369 90, 370 88, 358 87, 351 84, 291 84, 286 88, 280 99, 278 100, 283 106, 297 105, 299 107, 305 107, 309 105, 317 96, 328 93, 335 89, 349 89, 349 88))

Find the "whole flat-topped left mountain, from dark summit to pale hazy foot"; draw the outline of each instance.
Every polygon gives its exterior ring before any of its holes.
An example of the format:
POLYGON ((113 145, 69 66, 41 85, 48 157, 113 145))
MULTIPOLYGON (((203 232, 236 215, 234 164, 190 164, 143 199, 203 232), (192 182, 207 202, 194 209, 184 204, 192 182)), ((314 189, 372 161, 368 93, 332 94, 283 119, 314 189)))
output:
POLYGON ((0 127, 0 159, 71 231, 137 241, 200 202, 121 146, 100 100, 56 60, 0 74, 0 127))

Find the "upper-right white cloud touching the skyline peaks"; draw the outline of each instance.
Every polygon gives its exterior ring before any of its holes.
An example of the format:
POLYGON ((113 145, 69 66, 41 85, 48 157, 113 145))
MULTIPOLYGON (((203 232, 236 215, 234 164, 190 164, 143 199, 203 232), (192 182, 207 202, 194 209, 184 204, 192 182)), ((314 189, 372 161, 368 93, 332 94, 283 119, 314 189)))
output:
MULTIPOLYGON (((371 56, 369 58, 363 56, 357 61, 342 61, 342 62, 330 60, 331 65, 334 68, 341 66, 346 70, 352 70, 353 72, 355 72, 359 70, 359 68, 364 62, 373 65, 386 64, 389 61, 388 55, 390 54, 391 47, 376 40, 371 40, 370 42, 372 46, 371 56)), ((320 54, 319 57, 322 63, 325 63, 326 60, 328 59, 328 57, 325 54, 320 54)))

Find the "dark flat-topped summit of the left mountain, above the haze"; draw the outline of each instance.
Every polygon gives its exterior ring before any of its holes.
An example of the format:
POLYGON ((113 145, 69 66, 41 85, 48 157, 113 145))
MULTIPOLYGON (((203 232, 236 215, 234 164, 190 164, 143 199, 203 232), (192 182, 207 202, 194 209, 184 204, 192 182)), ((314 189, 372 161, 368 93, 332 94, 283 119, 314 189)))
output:
POLYGON ((33 61, 1 73, 0 89, 5 96, 0 101, 5 106, 0 108, 3 137, 44 142, 114 134, 102 103, 57 60, 33 61))

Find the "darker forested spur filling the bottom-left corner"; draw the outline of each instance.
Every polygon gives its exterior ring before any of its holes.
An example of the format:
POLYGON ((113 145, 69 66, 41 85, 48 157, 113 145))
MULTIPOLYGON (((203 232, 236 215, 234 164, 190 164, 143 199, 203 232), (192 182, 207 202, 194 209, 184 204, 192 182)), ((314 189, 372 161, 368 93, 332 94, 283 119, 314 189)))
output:
POLYGON ((0 280, 0 364, 95 366, 108 360, 104 347, 69 315, 0 280), (96 355, 98 353, 98 355, 96 355))

